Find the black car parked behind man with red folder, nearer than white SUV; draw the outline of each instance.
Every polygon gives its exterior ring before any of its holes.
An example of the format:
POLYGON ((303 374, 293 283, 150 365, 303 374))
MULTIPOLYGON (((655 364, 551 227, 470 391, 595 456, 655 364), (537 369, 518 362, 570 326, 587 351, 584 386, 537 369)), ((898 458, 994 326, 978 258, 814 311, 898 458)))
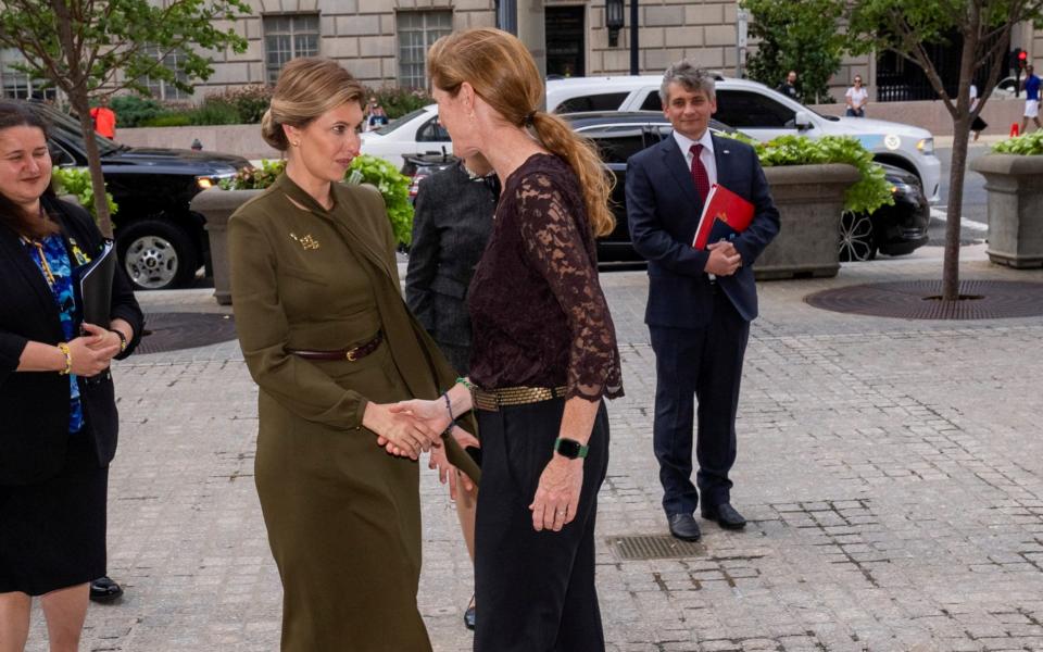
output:
MULTIPOLYGON (((602 267, 641 263, 642 259, 630 242, 627 224, 627 159, 646 147, 669 137, 669 121, 658 112, 592 112, 562 115, 577 133, 591 138, 605 166, 612 171, 616 184, 612 191, 612 211, 616 228, 598 240, 598 260, 602 267)), ((711 130, 733 133, 734 128, 711 121, 711 130)), ((451 165, 455 159, 442 152, 407 156, 402 172, 414 178, 411 195, 415 196, 419 180, 451 165)), ((890 255, 909 253, 927 243, 930 210, 927 198, 913 173, 883 164, 892 184, 893 206, 882 206, 871 214, 845 214, 842 217, 839 246, 841 260, 870 260, 877 251, 890 255)))

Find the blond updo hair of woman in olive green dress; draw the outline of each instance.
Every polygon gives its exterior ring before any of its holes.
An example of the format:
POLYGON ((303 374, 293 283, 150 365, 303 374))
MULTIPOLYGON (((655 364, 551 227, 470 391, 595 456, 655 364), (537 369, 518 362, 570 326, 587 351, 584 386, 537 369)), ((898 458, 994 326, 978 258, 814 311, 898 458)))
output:
POLYGON ((285 152, 290 149, 290 141, 282 125, 304 128, 319 115, 348 102, 357 102, 362 108, 365 92, 362 84, 331 59, 293 59, 279 73, 272 106, 261 118, 261 136, 285 152))

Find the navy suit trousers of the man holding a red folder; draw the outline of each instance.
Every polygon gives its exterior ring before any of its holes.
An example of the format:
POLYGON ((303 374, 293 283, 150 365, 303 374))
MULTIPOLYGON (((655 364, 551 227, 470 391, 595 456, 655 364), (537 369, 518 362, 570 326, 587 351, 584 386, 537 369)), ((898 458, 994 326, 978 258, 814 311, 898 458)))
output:
POLYGON ((649 327, 656 374, 652 441, 667 515, 694 512, 700 491, 705 504, 731 497, 728 472, 736 462, 736 413, 750 323, 719 288, 713 311, 703 328, 649 327), (692 485, 694 399, 699 490, 692 485))

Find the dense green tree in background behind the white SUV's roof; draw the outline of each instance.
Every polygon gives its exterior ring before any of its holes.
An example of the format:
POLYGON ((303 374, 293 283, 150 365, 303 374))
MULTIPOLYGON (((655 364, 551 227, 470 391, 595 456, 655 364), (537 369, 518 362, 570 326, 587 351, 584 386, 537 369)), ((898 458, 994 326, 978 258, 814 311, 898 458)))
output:
POLYGON ((829 78, 840 70, 844 38, 837 0, 742 0, 753 14, 750 35, 758 39, 750 55, 750 77, 775 88, 796 71, 796 88, 807 103, 831 102, 829 78))

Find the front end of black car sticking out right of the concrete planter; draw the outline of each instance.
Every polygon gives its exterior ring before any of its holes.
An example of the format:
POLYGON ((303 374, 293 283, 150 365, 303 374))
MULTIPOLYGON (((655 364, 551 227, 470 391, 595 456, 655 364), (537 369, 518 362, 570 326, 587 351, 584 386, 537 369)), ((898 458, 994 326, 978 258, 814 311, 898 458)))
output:
POLYGON ((877 251, 902 255, 927 244, 931 209, 920 180, 901 167, 882 166, 894 205, 880 206, 868 214, 845 212, 841 216, 841 261, 870 261, 877 251))

